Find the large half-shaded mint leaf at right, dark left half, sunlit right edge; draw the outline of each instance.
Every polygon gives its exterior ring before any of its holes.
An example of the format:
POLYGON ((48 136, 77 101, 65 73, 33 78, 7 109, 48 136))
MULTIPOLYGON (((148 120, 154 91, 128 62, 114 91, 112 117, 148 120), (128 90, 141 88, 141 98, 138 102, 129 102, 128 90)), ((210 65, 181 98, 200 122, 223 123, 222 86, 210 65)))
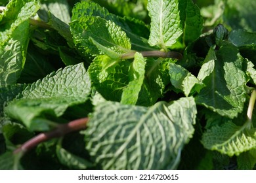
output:
POLYGON ((196 103, 228 118, 242 112, 246 78, 236 46, 223 43, 216 54, 210 49, 198 78, 205 88, 196 97, 196 103))

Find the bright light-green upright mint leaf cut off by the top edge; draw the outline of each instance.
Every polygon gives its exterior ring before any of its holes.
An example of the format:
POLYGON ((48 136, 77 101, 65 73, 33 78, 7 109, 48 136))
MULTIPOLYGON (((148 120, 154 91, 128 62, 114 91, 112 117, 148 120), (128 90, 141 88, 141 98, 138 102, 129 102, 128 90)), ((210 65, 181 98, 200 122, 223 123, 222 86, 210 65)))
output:
POLYGON ((151 18, 148 42, 151 46, 167 50, 181 36, 178 5, 178 0, 148 1, 148 14, 151 18))

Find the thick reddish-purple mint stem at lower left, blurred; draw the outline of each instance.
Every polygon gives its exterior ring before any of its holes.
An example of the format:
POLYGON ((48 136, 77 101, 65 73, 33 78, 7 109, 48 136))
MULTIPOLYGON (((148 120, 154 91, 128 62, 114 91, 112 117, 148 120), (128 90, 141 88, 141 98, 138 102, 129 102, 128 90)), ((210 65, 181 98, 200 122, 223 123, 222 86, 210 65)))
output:
POLYGON ((14 154, 20 152, 26 153, 28 152, 28 150, 31 150, 33 147, 37 146, 41 142, 49 141, 50 139, 56 137, 62 137, 72 131, 85 129, 87 127, 88 120, 88 118, 77 119, 72 122, 69 122, 68 124, 58 125, 58 127, 56 127, 56 129, 54 129, 53 131, 40 133, 39 135, 33 137, 29 141, 22 144, 22 146, 14 150, 14 154))

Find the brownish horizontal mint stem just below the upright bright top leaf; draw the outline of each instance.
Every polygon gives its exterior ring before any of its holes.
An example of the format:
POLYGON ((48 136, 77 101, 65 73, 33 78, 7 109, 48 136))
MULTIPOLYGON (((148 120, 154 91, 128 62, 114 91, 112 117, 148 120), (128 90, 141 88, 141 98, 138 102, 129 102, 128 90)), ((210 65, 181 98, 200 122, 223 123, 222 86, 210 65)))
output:
MULTIPOLYGON (((131 59, 134 58, 136 52, 129 52, 123 54, 121 59, 131 59)), ((139 52, 144 57, 160 57, 160 58, 174 58, 174 59, 182 59, 182 54, 179 52, 161 52, 160 50, 153 50, 153 51, 144 51, 139 52)))

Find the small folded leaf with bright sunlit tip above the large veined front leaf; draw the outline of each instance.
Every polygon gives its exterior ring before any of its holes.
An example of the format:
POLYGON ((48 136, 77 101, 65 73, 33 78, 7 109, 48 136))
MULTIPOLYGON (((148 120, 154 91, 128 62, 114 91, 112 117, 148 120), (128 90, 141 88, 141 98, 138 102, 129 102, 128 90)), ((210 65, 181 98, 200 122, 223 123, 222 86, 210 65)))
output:
POLYGON ((200 92, 203 88, 203 83, 184 69, 184 67, 181 67, 181 65, 170 63, 169 75, 171 77, 171 84, 184 92, 186 97, 194 91, 200 92))

